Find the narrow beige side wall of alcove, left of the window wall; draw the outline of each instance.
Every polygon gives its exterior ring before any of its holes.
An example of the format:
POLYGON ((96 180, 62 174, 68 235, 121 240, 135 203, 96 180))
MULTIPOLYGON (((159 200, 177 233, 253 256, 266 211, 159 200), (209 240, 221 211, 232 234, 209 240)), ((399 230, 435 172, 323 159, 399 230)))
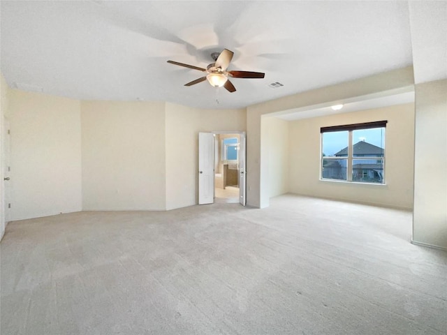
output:
POLYGON ((269 194, 275 197, 288 192, 289 141, 288 122, 265 117, 268 131, 269 194))

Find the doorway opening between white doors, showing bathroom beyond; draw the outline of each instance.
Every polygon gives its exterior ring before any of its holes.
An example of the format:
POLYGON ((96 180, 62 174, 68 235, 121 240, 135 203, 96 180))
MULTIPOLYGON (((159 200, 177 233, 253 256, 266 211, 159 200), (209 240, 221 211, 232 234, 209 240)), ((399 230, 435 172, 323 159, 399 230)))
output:
POLYGON ((240 142, 238 133, 215 133, 215 202, 240 202, 240 142))

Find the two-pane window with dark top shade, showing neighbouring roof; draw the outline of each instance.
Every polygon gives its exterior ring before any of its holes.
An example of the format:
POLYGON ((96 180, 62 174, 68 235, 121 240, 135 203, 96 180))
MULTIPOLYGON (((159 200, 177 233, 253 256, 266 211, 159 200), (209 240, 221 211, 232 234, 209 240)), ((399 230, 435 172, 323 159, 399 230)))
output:
POLYGON ((321 179, 385 184, 386 123, 321 128, 321 179))

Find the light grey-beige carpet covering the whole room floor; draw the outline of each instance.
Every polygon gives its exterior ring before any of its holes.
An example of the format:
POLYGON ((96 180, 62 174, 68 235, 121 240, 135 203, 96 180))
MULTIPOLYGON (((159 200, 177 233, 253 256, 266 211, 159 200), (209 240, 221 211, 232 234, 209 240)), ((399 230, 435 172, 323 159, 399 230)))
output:
POLYGON ((284 195, 10 223, 1 334, 446 334, 447 253, 411 213, 284 195))

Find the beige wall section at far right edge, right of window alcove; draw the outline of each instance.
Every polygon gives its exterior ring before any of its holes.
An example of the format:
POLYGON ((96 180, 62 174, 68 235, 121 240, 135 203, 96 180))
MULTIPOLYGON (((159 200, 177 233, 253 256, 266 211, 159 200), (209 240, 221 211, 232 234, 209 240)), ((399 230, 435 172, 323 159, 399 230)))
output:
POLYGON ((413 241, 447 248, 447 80, 416 85, 413 241))

